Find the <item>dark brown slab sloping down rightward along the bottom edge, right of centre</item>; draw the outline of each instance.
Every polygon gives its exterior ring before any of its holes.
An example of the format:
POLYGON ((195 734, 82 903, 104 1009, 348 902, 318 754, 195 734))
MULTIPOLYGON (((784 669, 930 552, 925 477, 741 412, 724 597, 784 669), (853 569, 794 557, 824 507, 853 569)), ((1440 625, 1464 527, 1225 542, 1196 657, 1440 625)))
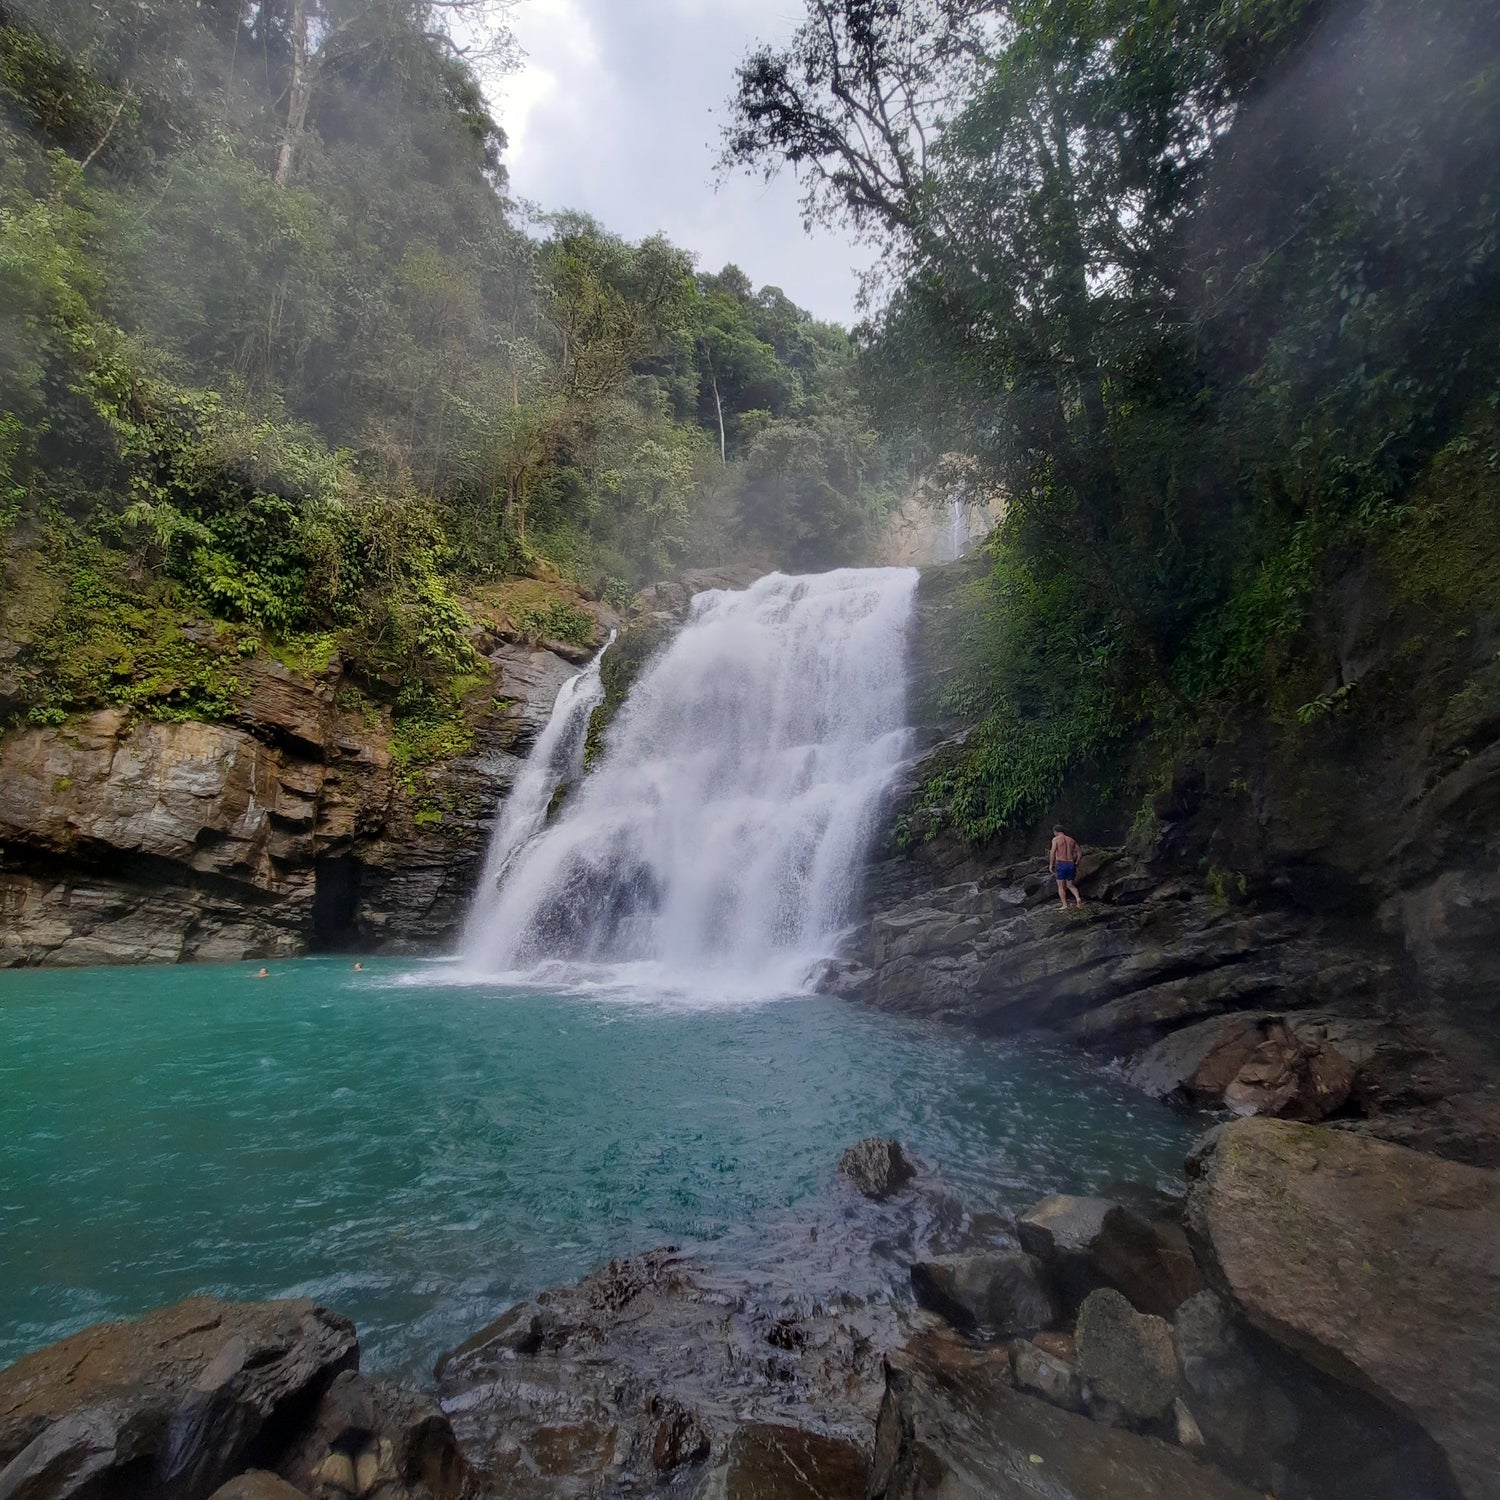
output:
POLYGON ((1010 1362, 915 1341, 886 1374, 870 1500, 1258 1500, 1184 1449, 1022 1395, 1010 1362))

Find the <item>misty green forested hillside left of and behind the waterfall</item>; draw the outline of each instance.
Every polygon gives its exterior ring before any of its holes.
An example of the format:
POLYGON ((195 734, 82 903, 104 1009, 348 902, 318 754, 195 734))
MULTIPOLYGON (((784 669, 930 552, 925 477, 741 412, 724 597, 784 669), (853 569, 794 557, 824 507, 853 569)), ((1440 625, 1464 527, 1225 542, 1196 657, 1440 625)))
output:
POLYGON ((848 333, 528 225, 450 39, 504 16, 0 3, 0 717, 212 717, 262 645, 420 712, 506 579, 567 638, 687 564, 858 558, 898 470, 848 333))

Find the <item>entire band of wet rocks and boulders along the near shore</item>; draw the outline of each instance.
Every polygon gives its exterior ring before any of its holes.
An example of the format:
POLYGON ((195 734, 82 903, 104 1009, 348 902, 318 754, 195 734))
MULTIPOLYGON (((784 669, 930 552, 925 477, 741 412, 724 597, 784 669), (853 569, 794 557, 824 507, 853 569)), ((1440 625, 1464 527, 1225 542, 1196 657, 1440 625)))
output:
POLYGON ((432 1392, 310 1302, 86 1329, 0 1372, 0 1500, 1496 1496, 1496 1173, 1266 1119, 1166 1216, 843 1167, 759 1257, 612 1262, 432 1392))

